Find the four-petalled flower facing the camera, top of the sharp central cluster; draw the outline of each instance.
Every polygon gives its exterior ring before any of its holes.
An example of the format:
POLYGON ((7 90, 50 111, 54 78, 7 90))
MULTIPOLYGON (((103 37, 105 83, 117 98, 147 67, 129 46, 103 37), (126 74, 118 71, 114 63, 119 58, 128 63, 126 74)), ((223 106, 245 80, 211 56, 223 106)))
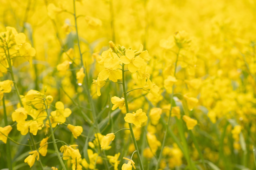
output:
POLYGON ((121 56, 120 60, 124 64, 128 64, 128 70, 131 73, 135 73, 141 66, 143 66, 144 60, 140 57, 135 57, 134 51, 127 49, 125 56, 121 56))

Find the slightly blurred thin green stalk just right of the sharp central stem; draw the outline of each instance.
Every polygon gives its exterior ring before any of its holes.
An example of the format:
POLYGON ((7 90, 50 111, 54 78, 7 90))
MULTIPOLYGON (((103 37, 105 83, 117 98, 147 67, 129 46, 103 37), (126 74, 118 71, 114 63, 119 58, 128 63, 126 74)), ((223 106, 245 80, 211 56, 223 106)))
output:
MULTIPOLYGON (((176 61, 175 61, 175 67, 174 67, 174 77, 176 75, 176 69, 177 69, 177 62, 178 62, 178 58, 179 58, 179 52, 180 52, 180 48, 178 50, 178 53, 176 55, 176 61)), ((165 133, 164 133, 164 139, 163 139, 163 143, 162 143, 162 147, 161 147, 161 150, 160 150, 160 153, 159 153, 159 157, 158 157, 158 160, 157 160, 157 165, 156 165, 156 168, 155 170, 158 169, 159 167, 159 164, 160 164, 160 161, 162 159, 162 153, 163 153, 163 150, 164 150, 164 144, 165 144, 165 140, 166 140, 166 137, 167 137, 167 132, 168 132, 168 127, 169 127, 169 124, 170 124, 170 118, 171 118, 171 112, 172 112, 172 108, 173 108, 173 96, 174 96, 174 84, 173 84, 173 89, 172 89, 172 94, 171 94, 171 108, 170 108, 170 113, 169 113, 169 116, 168 116, 168 121, 167 121, 167 124, 166 124, 166 128, 165 128, 165 133)))

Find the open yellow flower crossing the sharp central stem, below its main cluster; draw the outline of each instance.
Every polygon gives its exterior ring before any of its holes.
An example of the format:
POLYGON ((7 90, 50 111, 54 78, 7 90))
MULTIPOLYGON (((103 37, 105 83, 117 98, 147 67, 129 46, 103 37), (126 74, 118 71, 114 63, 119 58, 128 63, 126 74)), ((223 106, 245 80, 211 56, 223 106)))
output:
POLYGON ((137 127, 141 127, 141 124, 147 120, 145 112, 142 109, 138 109, 136 113, 127 113, 124 117, 125 122, 133 123, 137 127))

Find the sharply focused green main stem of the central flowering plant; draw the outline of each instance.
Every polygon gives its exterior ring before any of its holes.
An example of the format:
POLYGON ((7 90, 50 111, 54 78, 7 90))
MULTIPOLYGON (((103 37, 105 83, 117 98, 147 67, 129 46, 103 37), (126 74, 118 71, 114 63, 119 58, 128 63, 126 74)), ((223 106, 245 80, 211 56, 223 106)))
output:
MULTIPOLYGON (((125 90, 124 64, 122 65, 122 69, 123 69, 123 71, 122 71, 122 79, 123 79, 124 102, 125 102, 126 113, 129 113, 128 101, 127 101, 127 94, 126 94, 126 90, 125 90)), ((142 161, 141 161, 140 152, 139 152, 139 149, 138 149, 138 146, 137 146, 137 142, 136 142, 136 139, 135 139, 133 130, 132 130, 132 124, 131 124, 131 123, 128 123, 128 124, 129 124, 129 128, 130 128, 130 132, 131 132, 133 144, 134 144, 135 150, 137 151, 138 162, 139 162, 139 164, 140 164, 140 168, 141 168, 141 170, 144 170, 144 169, 143 169, 143 165, 142 165, 142 161)))

